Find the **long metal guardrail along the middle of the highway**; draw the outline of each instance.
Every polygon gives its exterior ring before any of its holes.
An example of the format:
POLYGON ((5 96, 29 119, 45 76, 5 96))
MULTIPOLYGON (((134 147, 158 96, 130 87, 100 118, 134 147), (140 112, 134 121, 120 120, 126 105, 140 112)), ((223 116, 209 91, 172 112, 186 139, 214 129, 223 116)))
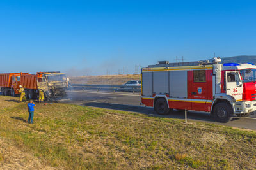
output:
POLYGON ((83 85, 83 84, 72 84, 71 89, 79 90, 111 90, 113 92, 122 91, 122 92, 141 92, 141 86, 138 85, 83 85))

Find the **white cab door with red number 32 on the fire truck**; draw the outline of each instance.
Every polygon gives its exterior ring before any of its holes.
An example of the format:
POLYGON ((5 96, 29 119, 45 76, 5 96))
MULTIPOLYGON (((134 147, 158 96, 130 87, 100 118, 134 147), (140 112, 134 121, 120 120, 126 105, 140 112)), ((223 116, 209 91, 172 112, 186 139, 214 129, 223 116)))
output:
POLYGON ((241 101, 243 97, 243 83, 241 82, 241 76, 238 71, 226 71, 225 73, 226 93, 241 101))

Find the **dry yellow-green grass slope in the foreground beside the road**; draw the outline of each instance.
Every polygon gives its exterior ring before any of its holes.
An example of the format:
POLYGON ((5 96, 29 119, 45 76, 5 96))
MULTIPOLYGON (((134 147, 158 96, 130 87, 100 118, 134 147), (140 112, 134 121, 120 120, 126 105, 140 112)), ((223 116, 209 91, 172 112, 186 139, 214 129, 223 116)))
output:
POLYGON ((0 96, 0 169, 256 169, 256 132, 0 96))

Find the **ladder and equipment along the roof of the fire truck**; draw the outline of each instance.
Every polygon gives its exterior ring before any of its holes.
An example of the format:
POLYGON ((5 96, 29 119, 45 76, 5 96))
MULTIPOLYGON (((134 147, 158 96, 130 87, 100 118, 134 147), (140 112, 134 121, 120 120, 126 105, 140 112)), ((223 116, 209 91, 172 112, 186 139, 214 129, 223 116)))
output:
POLYGON ((169 63, 168 61, 159 61, 158 64, 149 65, 147 68, 154 68, 154 67, 180 67, 180 66, 202 66, 202 65, 210 65, 214 63, 221 62, 220 57, 214 57, 210 60, 205 61, 193 61, 193 62, 173 62, 169 63))

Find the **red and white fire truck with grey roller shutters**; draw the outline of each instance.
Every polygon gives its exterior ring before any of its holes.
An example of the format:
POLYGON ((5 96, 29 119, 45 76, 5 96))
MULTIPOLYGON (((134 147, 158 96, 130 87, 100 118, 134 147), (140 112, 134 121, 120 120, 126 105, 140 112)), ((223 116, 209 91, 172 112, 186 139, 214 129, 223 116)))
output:
POLYGON ((256 66, 220 62, 214 57, 212 62, 159 62, 142 69, 141 103, 160 115, 173 109, 205 111, 218 122, 250 115, 256 110, 256 66))

